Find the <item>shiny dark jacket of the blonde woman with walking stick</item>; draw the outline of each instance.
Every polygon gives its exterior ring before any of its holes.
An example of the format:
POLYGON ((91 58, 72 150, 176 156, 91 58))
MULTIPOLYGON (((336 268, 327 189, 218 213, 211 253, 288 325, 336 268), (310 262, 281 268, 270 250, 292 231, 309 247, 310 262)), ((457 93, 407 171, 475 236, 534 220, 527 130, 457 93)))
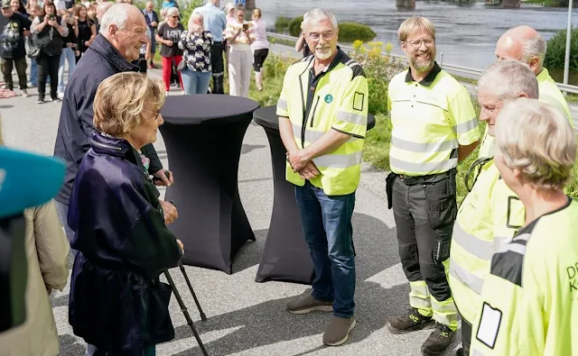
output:
POLYGON ((70 196, 79 252, 70 279, 69 322, 98 350, 143 355, 172 340, 170 286, 159 281, 181 251, 164 224, 142 160, 122 139, 94 132, 70 196))

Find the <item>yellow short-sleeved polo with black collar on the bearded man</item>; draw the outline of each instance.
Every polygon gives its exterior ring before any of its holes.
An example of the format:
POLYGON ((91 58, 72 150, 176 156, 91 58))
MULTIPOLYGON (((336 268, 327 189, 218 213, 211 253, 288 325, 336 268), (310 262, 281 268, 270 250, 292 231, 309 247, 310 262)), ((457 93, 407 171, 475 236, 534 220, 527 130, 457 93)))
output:
POLYGON ((458 148, 480 140, 478 119, 465 87, 437 63, 419 83, 410 70, 389 82, 389 165, 394 173, 425 176, 458 165, 458 148))

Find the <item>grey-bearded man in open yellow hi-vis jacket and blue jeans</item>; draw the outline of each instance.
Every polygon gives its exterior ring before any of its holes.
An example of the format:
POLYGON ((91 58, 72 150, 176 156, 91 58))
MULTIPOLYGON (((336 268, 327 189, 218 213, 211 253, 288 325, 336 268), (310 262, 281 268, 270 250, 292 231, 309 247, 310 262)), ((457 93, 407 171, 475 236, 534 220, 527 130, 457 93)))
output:
POLYGON ((333 14, 312 10, 303 16, 302 30, 313 55, 287 69, 277 115, 286 178, 295 185, 315 278, 312 294, 290 302, 287 311, 332 311, 323 343, 337 346, 355 326, 351 216, 368 123, 368 80, 337 46, 333 14))

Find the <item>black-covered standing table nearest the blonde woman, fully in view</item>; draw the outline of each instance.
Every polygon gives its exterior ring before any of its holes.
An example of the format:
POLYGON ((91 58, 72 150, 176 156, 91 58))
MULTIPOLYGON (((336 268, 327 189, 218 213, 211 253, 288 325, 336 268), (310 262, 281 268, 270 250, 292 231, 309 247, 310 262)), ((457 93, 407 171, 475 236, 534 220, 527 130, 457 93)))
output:
POLYGON ((232 273, 238 249, 255 234, 238 196, 243 137, 259 105, 238 96, 168 96, 160 127, 179 218, 169 228, 182 240, 183 263, 232 273))

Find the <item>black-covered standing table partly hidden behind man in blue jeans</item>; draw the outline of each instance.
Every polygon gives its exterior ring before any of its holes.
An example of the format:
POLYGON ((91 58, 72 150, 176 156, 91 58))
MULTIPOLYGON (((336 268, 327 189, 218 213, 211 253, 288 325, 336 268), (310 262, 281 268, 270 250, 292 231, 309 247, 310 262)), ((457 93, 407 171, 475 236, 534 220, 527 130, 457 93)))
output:
MULTIPOLYGON (((295 201, 295 187, 285 179, 286 150, 279 134, 279 121, 275 111, 275 106, 267 106, 253 113, 255 122, 265 129, 271 146, 275 189, 273 214, 255 280, 311 284, 313 263, 309 247, 303 238, 301 214, 295 201)), ((375 124, 375 117, 369 115, 368 130, 375 124)))

